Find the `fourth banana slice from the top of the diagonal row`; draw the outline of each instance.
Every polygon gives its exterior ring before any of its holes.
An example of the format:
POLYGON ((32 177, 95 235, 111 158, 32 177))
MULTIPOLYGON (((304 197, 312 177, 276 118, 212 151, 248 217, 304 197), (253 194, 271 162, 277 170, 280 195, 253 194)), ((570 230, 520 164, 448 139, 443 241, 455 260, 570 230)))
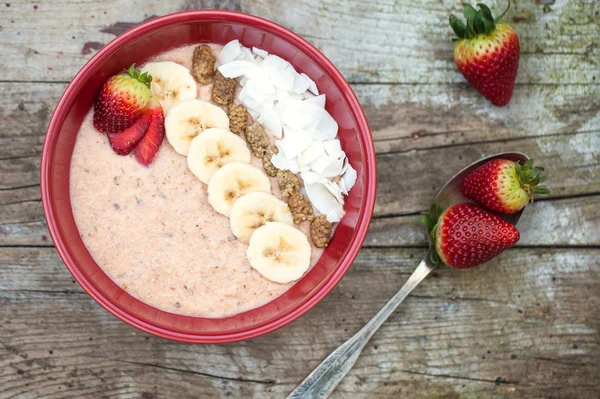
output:
POLYGON ((231 207, 244 194, 271 192, 269 177, 256 166, 231 162, 217 170, 208 182, 208 203, 215 211, 229 217, 231 207))

